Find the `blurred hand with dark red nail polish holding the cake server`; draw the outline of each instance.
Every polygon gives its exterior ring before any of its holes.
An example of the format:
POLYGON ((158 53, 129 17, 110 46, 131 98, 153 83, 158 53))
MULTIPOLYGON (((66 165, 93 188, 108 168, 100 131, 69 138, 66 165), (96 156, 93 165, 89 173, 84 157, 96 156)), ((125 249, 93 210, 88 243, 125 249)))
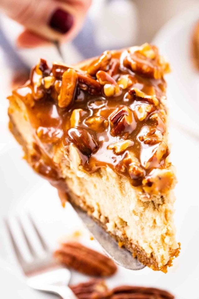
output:
POLYGON ((91 0, 0 0, 0 9, 25 27, 19 47, 71 40, 81 29, 91 0))

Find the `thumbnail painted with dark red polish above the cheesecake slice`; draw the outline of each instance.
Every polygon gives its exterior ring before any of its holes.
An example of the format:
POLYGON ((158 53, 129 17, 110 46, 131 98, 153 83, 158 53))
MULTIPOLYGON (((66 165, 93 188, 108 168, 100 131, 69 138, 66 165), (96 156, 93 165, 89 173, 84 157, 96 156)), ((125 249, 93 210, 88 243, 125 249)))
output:
POLYGON ((58 8, 52 15, 49 26, 60 32, 60 33, 67 33, 73 25, 73 16, 58 8))

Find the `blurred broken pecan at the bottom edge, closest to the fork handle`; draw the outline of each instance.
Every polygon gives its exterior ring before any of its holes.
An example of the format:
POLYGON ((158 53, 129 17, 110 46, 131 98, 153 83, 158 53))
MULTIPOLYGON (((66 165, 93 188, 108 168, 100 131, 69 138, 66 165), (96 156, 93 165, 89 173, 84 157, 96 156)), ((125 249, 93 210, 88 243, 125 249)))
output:
POLYGON ((109 298, 111 291, 102 279, 91 279, 88 282, 82 282, 75 286, 70 286, 73 293, 79 299, 105 299, 109 298))

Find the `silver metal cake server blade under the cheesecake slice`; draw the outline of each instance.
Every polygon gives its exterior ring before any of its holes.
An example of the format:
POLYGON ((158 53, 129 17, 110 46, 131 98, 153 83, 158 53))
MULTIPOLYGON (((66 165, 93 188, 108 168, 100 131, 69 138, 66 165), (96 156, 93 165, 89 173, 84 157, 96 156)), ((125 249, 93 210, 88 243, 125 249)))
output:
POLYGON ((133 258, 132 253, 125 248, 120 248, 116 240, 111 237, 97 222, 95 222, 88 214, 72 204, 78 216, 86 225, 87 229, 91 232, 94 238, 98 241, 106 254, 110 256, 118 265, 131 269, 141 270, 146 266, 140 263, 137 259, 133 258))

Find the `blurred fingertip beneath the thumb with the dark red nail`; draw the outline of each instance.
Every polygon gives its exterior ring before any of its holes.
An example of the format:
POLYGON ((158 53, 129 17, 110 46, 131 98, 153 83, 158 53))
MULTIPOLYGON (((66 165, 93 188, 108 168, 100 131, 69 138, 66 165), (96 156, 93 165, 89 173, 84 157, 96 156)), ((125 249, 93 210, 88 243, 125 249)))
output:
POLYGON ((17 38, 16 45, 19 48, 35 48, 50 44, 49 40, 25 29, 17 38))

